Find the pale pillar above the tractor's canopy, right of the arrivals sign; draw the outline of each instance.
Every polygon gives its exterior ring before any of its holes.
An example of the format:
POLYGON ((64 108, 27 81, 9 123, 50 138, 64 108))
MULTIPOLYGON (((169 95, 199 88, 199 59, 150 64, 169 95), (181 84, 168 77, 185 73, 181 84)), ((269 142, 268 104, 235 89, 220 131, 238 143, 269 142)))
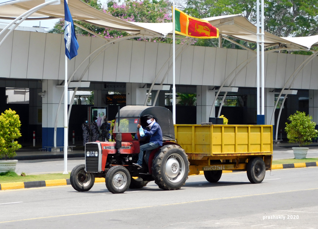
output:
POLYGON ((126 105, 143 106, 147 90, 141 88, 141 83, 126 83, 126 105))

